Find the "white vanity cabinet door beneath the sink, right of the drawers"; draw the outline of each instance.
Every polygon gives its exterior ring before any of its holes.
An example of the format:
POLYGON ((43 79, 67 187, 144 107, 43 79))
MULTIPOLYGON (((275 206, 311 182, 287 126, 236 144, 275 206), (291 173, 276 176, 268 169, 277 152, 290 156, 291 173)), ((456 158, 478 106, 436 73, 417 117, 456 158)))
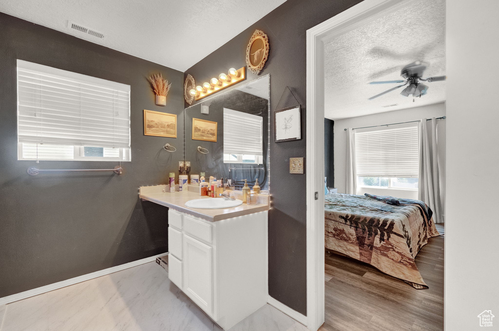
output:
POLYGON ((213 316, 213 248, 184 234, 184 292, 213 316))

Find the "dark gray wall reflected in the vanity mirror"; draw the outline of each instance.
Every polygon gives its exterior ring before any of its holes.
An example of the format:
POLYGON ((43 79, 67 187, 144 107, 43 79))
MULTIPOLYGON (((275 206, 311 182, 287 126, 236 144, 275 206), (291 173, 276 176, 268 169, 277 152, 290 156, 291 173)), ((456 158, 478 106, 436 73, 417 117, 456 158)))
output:
MULTIPOLYGON (((268 100, 259 98, 252 94, 239 90, 231 90, 227 93, 215 95, 204 104, 210 105, 208 115, 201 114, 201 104, 187 108, 184 114, 185 122, 185 160, 191 162, 190 174, 199 174, 201 171, 206 175, 217 179, 230 178, 237 189, 243 187, 244 179, 248 179, 250 187, 258 178, 262 190, 268 189, 267 183, 267 149, 268 149, 268 100), (229 108, 243 113, 249 113, 263 117, 263 166, 248 164, 224 163, 224 108, 229 108), (217 142, 205 142, 192 139, 192 119, 199 118, 207 121, 217 122, 217 142), (197 148, 201 146, 210 151, 209 154, 201 154, 197 148), (229 171, 229 168, 245 168, 229 171), (255 168, 264 167, 265 170, 255 168)), ((208 181, 208 179, 207 179, 208 181)))

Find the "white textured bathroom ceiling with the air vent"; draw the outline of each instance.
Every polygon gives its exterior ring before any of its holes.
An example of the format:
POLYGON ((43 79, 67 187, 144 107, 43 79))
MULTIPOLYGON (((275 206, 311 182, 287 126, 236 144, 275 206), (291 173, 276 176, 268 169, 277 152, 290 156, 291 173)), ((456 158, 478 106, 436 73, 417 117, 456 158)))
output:
POLYGON ((1 0, 0 11, 185 71, 283 2, 1 0), (105 37, 70 30, 68 20, 105 37))

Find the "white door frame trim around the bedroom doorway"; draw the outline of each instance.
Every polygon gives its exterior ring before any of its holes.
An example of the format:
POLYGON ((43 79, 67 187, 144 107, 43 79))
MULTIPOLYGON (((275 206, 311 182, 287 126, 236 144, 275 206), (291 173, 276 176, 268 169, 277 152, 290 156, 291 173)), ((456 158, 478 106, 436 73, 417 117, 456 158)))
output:
POLYGON ((318 330, 324 323, 324 43, 413 1, 364 0, 307 30, 306 326, 309 330, 318 330))

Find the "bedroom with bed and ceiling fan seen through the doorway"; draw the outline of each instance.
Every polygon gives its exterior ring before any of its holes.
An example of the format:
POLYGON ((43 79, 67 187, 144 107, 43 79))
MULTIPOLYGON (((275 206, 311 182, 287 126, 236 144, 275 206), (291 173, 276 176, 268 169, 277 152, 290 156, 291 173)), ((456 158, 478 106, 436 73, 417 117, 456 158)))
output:
POLYGON ((326 322, 443 330, 445 1, 337 33, 324 63, 326 322))

